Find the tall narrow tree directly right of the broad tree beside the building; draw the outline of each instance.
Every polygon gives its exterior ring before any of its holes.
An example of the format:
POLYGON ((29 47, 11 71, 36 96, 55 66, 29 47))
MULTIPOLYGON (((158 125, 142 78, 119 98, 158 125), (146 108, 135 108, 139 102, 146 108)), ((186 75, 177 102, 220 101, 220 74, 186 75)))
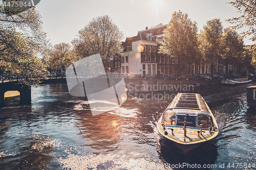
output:
POLYGON ((220 19, 208 20, 199 35, 200 51, 206 62, 211 65, 211 77, 214 74, 214 64, 221 59, 222 24, 220 19))

